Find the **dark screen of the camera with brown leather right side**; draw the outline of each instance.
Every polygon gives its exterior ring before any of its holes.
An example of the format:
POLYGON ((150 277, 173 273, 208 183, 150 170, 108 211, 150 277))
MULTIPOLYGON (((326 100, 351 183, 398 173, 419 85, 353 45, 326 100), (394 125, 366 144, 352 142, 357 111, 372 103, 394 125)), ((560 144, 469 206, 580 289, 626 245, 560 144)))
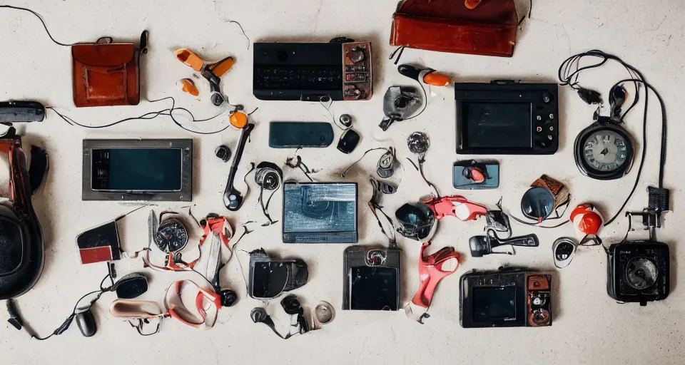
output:
POLYGON ((516 287, 474 287, 473 322, 516 318, 516 287))

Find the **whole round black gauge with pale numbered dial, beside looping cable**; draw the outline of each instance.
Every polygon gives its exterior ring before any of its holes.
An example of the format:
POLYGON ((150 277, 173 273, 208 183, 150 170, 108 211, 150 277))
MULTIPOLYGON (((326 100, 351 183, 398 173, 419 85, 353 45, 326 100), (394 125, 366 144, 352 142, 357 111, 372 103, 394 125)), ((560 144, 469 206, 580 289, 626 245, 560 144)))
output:
POLYGON ((577 140, 576 162, 590 178, 621 178, 630 168, 632 157, 631 138, 619 127, 590 127, 577 140))

